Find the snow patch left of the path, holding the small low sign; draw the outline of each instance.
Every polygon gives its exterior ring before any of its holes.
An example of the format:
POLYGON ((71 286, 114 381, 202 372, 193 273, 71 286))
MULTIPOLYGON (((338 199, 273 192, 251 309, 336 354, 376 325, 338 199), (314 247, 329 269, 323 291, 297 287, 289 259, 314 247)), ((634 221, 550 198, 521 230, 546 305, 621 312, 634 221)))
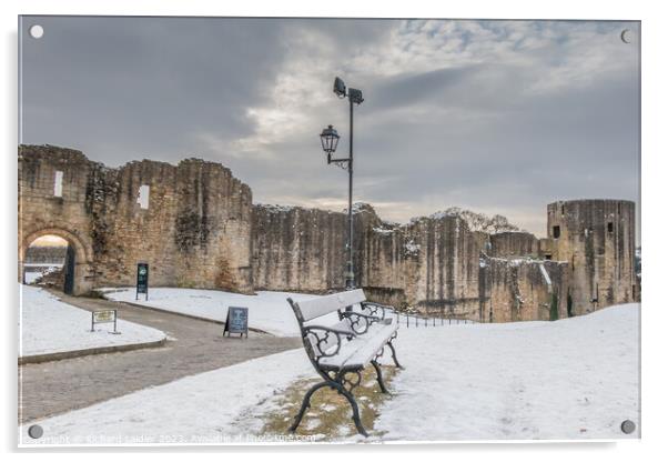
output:
POLYGON ((19 319, 19 356, 62 353, 101 346, 155 342, 165 333, 119 320, 120 334, 112 334, 113 324, 97 324, 91 332, 91 313, 61 302, 43 289, 19 284, 21 315, 19 319))

